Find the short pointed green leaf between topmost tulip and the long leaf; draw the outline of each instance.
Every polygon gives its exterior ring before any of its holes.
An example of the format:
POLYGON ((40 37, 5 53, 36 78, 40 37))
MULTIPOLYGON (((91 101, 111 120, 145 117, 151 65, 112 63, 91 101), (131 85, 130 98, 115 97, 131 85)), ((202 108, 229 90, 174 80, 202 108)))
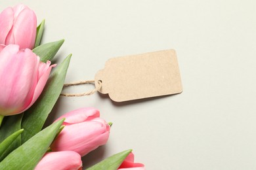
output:
POLYGON ((64 42, 64 39, 60 41, 54 41, 49 42, 46 44, 41 44, 40 46, 37 46, 36 48, 33 48, 33 52, 37 54, 37 56, 40 57, 40 60, 42 62, 46 62, 47 60, 50 60, 54 58, 58 50, 60 49, 60 46, 62 46, 64 42))

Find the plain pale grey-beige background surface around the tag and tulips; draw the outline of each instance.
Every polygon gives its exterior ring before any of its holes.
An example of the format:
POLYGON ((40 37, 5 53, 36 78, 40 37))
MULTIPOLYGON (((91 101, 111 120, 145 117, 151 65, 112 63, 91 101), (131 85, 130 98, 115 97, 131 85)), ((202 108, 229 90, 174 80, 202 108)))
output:
MULTIPOLYGON (((256 169, 256 1, 1 1, 45 18, 43 42, 65 39, 66 82, 90 80, 117 56, 173 48, 183 92, 123 104, 98 94, 60 97, 49 122, 96 107, 113 122, 84 167, 133 148, 146 169, 256 169)), ((68 91, 83 92, 93 86, 68 91)))

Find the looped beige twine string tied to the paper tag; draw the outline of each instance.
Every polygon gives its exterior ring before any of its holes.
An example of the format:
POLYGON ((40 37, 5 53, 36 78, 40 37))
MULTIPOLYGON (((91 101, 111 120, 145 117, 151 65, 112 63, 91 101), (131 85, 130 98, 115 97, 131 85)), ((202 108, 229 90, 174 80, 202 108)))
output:
MULTIPOLYGON (((81 84, 95 84, 95 80, 82 80, 79 82, 71 82, 71 83, 67 83, 63 85, 63 88, 69 87, 69 86, 77 86, 77 85, 81 85, 81 84)), ((92 95, 93 93, 97 92, 98 90, 100 90, 100 88, 102 87, 102 82, 101 80, 98 80, 98 86, 95 86, 95 89, 89 91, 89 92, 83 92, 83 93, 60 93, 60 95, 62 96, 66 96, 66 97, 81 97, 81 96, 85 96, 85 95, 92 95)))

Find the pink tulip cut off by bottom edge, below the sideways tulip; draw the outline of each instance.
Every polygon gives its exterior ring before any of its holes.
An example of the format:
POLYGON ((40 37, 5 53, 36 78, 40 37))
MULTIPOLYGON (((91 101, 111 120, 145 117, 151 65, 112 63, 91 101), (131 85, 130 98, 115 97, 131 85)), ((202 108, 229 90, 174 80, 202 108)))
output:
POLYGON ((47 152, 35 170, 77 170, 81 169, 81 156, 73 151, 47 152))

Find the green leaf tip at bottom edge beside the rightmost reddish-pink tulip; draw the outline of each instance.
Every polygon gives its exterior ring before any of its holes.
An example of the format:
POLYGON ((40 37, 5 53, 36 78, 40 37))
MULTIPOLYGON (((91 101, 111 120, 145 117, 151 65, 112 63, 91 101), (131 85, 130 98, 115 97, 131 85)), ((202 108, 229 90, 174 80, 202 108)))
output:
POLYGON ((119 152, 106 158, 105 160, 96 163, 92 167, 89 167, 87 170, 116 170, 123 163, 125 158, 131 153, 131 149, 119 152))

